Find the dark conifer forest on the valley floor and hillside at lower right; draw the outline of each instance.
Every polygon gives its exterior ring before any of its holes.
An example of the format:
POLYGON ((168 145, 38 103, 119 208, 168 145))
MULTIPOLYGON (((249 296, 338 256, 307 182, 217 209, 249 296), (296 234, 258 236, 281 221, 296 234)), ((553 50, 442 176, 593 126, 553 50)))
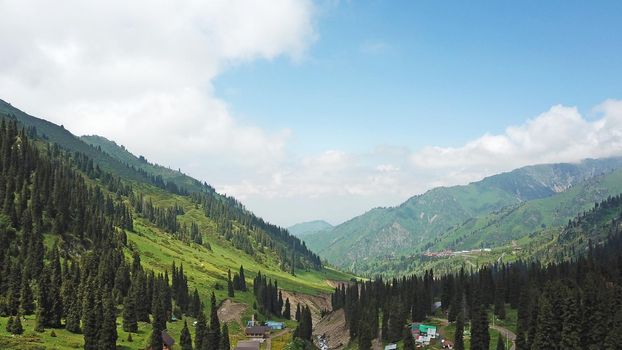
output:
POLYGON ((448 319, 441 332, 451 335, 458 350, 506 349, 503 339, 491 341, 492 335, 503 336, 490 328, 492 318, 516 334, 518 350, 621 349, 621 219, 622 201, 614 196, 568 223, 558 243, 584 244, 561 249, 565 261, 463 267, 440 277, 429 270, 342 285, 333 294, 333 309, 344 309, 359 349, 371 348, 376 337, 414 349, 404 325, 430 324, 433 316, 448 319), (433 310, 434 301, 441 302, 440 312, 433 310))

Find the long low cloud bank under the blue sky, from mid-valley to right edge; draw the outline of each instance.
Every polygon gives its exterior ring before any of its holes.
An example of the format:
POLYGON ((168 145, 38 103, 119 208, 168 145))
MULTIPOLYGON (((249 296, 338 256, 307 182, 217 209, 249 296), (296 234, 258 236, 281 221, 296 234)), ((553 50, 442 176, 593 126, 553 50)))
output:
POLYGON ((437 186, 467 184, 525 165, 622 155, 622 101, 607 100, 593 113, 586 118, 576 107, 553 106, 522 125, 460 147, 329 150, 290 163, 273 177, 224 189, 257 207, 269 198, 271 208, 260 210, 274 216, 287 212, 291 223, 318 217, 338 223, 437 186), (300 211, 288 210, 293 203, 300 211))

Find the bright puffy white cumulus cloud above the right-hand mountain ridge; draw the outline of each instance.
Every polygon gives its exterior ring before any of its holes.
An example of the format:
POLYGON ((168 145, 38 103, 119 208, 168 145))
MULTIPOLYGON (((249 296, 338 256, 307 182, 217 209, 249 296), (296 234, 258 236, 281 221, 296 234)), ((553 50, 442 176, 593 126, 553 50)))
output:
POLYGON ((594 111, 598 117, 588 120, 576 107, 556 105, 502 134, 461 147, 426 147, 412 161, 422 171, 448 172, 440 183, 460 183, 529 164, 621 155, 622 101, 607 100, 594 111))

